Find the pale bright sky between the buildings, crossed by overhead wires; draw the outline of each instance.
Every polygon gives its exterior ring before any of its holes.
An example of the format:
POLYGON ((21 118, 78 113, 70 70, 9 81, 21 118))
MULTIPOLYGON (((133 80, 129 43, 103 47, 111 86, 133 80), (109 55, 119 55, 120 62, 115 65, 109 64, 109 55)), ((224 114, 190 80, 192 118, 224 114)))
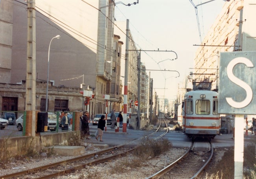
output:
MULTIPOLYGON (((182 86, 189 72, 193 71, 198 48, 194 45, 200 45, 198 26, 203 39, 225 3, 224 0, 209 1, 193 0, 195 6, 206 2, 197 7, 199 23, 190 0, 139 0, 135 5, 133 2, 137 0, 121 1, 132 4, 131 6, 116 1, 115 19, 124 21, 125 24, 126 19, 129 19, 129 28, 138 50, 173 51, 141 53, 141 62, 145 64, 147 74, 150 72, 153 92, 156 91, 158 98, 176 99, 178 87, 182 86)), ((121 38, 120 41, 125 39, 121 38)), ((125 50, 125 44, 122 50, 125 50)), ((124 65, 124 61, 122 64, 124 65)), ((124 68, 122 72, 124 73, 124 68)))

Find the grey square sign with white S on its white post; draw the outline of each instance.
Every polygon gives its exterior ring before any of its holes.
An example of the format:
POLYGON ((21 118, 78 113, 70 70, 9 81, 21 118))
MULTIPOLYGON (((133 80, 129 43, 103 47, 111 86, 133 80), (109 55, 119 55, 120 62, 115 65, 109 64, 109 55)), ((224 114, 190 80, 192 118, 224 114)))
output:
POLYGON ((235 179, 243 178, 243 119, 255 114, 256 52, 221 52, 219 68, 219 114, 235 117, 235 179))

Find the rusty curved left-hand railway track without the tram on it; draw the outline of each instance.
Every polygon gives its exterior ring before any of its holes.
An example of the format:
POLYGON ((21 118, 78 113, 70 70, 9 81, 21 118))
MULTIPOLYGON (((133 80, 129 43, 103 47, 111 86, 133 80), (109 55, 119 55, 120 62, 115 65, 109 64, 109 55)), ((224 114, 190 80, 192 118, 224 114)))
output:
MULTIPOLYGON (((161 123, 162 122, 160 122, 160 124, 161 123)), ((133 148, 126 148, 128 144, 131 144, 133 142, 143 141, 146 137, 150 137, 153 135, 154 137, 151 140, 157 140, 158 138, 163 137, 168 132, 167 124, 166 122, 164 123, 166 125, 166 130, 163 133, 159 134, 159 130, 161 129, 161 125, 159 125, 158 129, 156 129, 156 131, 154 131, 153 133, 143 136, 141 138, 138 138, 136 140, 126 142, 119 146, 114 146, 108 149, 104 149, 102 151, 91 153, 89 155, 75 157, 67 161, 56 162, 56 163, 48 164, 45 166, 32 168, 29 170, 23 170, 16 173, 9 173, 7 175, 0 176, 0 178, 16 179, 17 177, 19 177, 19 178, 28 178, 28 179, 50 179, 53 177, 58 177, 60 175, 66 175, 68 173, 72 173, 76 170, 80 170, 81 168, 84 168, 85 166, 90 166, 90 165, 111 161, 113 159, 116 159, 117 157, 122 157, 127 153, 130 153, 134 149, 138 148, 139 146, 143 145, 143 143, 141 143, 139 145, 134 146, 133 148)))

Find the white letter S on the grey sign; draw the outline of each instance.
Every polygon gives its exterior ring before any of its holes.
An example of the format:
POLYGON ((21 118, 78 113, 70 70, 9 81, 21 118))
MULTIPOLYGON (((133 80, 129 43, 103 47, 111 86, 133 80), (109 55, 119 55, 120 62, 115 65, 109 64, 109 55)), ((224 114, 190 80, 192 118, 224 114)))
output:
POLYGON ((235 108, 243 108, 247 105, 249 105, 250 101, 252 101, 252 89, 251 87, 245 83, 244 81, 242 81, 241 79, 237 78, 236 76, 234 76, 233 74, 233 68, 234 66, 236 66, 238 63, 244 63, 245 65, 247 65, 248 67, 253 67, 252 62, 245 58, 245 57, 237 57, 234 58, 232 61, 230 61, 230 63, 228 63, 227 66, 227 74, 228 74, 228 78, 235 84, 237 84, 238 86, 242 87, 243 89, 245 89, 246 91, 246 98, 245 100, 241 101, 241 102, 236 102, 234 100, 232 100, 232 98, 226 98, 226 101, 228 102, 229 105, 231 105, 232 107, 235 108))

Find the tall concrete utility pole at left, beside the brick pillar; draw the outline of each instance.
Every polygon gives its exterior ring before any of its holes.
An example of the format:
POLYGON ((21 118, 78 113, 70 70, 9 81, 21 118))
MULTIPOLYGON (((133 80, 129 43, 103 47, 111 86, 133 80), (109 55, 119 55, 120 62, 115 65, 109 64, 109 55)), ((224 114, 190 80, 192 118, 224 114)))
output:
POLYGON ((28 1, 28 37, 25 110, 32 111, 32 133, 35 136, 35 0, 28 1))

